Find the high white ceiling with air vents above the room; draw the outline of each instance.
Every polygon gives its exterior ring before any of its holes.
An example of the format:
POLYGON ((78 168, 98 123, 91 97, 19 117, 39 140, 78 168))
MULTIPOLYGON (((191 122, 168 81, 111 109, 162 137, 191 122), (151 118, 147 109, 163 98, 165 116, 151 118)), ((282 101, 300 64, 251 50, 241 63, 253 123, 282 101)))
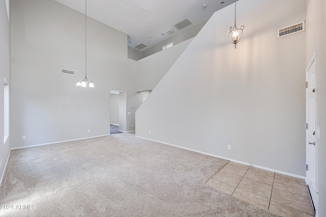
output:
MULTIPOLYGON (((85 14, 85 0, 55 1, 85 14)), ((87 15, 127 34, 128 46, 143 43, 147 47, 141 50, 146 50, 207 21, 215 11, 232 3, 234 0, 88 0, 87 15), (184 18, 193 24, 180 30, 173 26, 184 18), (169 35, 169 29, 175 33, 169 35)))

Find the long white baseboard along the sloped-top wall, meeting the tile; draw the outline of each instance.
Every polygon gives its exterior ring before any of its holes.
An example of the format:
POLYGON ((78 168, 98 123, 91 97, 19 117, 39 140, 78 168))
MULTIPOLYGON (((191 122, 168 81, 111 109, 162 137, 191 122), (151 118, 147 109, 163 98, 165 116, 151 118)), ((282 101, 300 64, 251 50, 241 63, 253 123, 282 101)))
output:
POLYGON ((271 171, 271 172, 277 172, 277 173, 280 173, 280 174, 289 175, 289 176, 293 176, 293 177, 296 177, 296 178, 302 178, 302 179, 305 179, 306 180, 306 177, 305 176, 296 175, 296 174, 292 174, 292 173, 287 173, 287 172, 283 172, 283 171, 279 171, 279 170, 274 170, 274 169, 270 169, 270 168, 267 168, 267 167, 261 167, 261 166, 258 166, 258 165, 254 165, 254 164, 250 164, 250 163, 246 163, 246 162, 242 162, 242 161, 236 161, 236 160, 233 160, 233 159, 230 159, 230 158, 225 158, 225 157, 222 157, 222 156, 217 156, 215 154, 210 154, 210 153, 206 153, 206 152, 203 152, 203 151, 199 151, 199 150, 195 150, 195 149, 191 149, 191 148, 186 148, 186 147, 182 147, 182 146, 178 146, 178 145, 173 145, 173 144, 169 144, 169 143, 166 143, 166 142, 160 142, 160 141, 156 141, 156 140, 153 140, 153 139, 148 139, 148 138, 144 138, 144 137, 140 137, 140 136, 135 136, 135 137, 138 137, 138 138, 141 138, 141 139, 150 140, 150 141, 153 141, 153 142, 158 142, 158 143, 166 144, 166 145, 171 145, 171 146, 174 146, 174 147, 178 147, 178 148, 182 148, 182 149, 186 149, 186 150, 190 150, 190 151, 195 151, 195 152, 206 154, 208 156, 212 156, 212 157, 215 157, 215 158, 222 158, 224 160, 233 161, 233 162, 236 162, 236 163, 239 163, 239 164, 244 164, 244 165, 249 165, 249 166, 253 166, 253 167, 258 167, 260 169, 268 170, 268 171, 271 171))

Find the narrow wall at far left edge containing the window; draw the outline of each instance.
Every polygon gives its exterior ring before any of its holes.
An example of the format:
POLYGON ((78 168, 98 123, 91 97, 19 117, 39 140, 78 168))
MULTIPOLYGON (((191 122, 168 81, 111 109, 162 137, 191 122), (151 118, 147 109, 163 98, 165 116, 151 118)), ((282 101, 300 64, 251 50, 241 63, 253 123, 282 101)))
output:
MULTIPOLYGON (((0 79, 6 78, 10 84, 10 21, 7 12, 8 1, 0 0, 0 79), (7 4, 6 4, 7 3, 7 4)), ((8 6, 9 7, 9 6, 8 6)), ((4 82, 0 83, 0 138, 4 138, 4 82)), ((10 134, 9 137, 0 143, 0 185, 4 175, 5 165, 10 153, 10 134)))

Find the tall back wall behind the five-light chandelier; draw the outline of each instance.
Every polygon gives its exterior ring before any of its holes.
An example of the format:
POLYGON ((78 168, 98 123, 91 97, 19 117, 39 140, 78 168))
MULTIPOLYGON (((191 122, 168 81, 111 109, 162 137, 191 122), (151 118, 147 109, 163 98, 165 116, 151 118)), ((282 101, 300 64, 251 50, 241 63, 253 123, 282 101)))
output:
POLYGON ((127 104, 137 95, 127 35, 88 17, 87 75, 95 88, 81 88, 85 15, 52 0, 12 0, 11 13, 11 146, 110 134, 110 89, 130 92, 127 104))

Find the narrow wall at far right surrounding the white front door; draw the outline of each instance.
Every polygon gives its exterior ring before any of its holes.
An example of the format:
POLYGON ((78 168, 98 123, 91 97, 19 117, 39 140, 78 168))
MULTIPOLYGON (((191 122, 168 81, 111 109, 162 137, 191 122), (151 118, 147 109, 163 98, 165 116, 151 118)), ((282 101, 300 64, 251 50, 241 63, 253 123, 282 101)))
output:
POLYGON ((316 216, 324 216, 326 213, 326 44, 322 36, 326 30, 321 26, 326 23, 326 3, 323 0, 307 1, 307 40, 306 40, 306 66, 316 51, 316 126, 320 128, 320 139, 316 138, 317 149, 317 190, 319 202, 316 216))

